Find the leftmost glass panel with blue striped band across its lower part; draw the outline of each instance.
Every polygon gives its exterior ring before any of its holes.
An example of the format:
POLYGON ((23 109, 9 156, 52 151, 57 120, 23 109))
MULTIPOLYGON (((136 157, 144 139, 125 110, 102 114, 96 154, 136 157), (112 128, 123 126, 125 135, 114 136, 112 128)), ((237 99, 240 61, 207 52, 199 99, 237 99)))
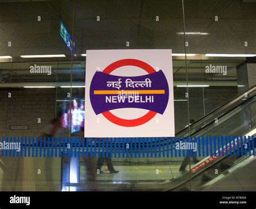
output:
POLYGON ((60 37, 59 18, 71 29, 72 18, 66 13, 73 10, 64 2, 0 3, 0 56, 8 56, 0 57, 0 141, 17 145, 1 150, 1 191, 63 189, 62 162, 69 160, 60 157, 55 145, 62 148, 61 142, 51 137, 69 136, 59 127, 56 101, 60 82, 68 78, 70 86, 71 52, 60 37))

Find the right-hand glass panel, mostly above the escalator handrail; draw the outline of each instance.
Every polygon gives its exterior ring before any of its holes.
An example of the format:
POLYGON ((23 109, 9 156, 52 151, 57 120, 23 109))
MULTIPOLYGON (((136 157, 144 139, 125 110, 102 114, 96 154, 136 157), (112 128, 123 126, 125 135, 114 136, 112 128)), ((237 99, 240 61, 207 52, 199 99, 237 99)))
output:
MULTIPOLYGON (((256 4, 252 1, 195 0, 185 1, 184 8, 188 43, 186 53, 193 54, 188 55, 188 79, 190 85, 199 85, 198 88, 189 88, 189 112, 190 119, 199 119, 256 84, 255 79, 251 80, 251 76, 255 74, 247 69, 248 63, 253 62, 250 67, 253 66, 255 70, 256 43, 252 34, 255 33, 256 4), (249 32, 248 29, 252 30, 249 32)), ((246 99, 244 97, 240 103, 246 99)), ((216 116, 213 123, 215 127, 201 134, 247 134, 255 128, 251 118, 253 106, 244 108, 225 120, 224 116, 216 116)), ((206 127, 204 131, 207 130, 206 127)), ((198 135, 200 136, 199 133, 198 135)), ((193 163, 191 158, 191 164, 193 163)), ((214 173, 214 170, 211 172, 214 173)), ((211 179, 218 176, 214 177, 212 173, 208 174, 211 179)), ((238 184, 235 181, 233 183, 238 184)), ((193 186, 192 190, 198 189, 198 185, 193 186)))

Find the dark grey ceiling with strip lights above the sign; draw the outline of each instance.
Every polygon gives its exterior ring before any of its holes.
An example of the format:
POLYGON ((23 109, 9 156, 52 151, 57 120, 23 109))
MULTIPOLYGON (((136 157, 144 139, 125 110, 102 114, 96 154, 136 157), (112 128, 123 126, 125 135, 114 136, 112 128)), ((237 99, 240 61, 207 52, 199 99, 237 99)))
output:
MULTIPOLYGON (((71 53, 59 35, 60 20, 76 41, 77 57, 72 58, 76 82, 84 81, 86 58, 79 55, 86 50, 171 48, 173 53, 185 53, 183 14, 186 32, 207 33, 186 34, 186 53, 256 54, 255 11, 255 2, 240 0, 184 1, 184 13, 181 0, 0 1, 0 56, 12 57, 11 60, 0 59, 0 72, 10 75, 5 83, 69 82, 71 53), (214 20, 215 16, 218 21, 214 20), (11 46, 8 46, 9 41, 11 46), (66 57, 20 57, 28 54, 65 54, 66 57), (29 67, 35 63, 51 65, 52 75, 30 74, 29 67)), ((174 59, 174 81, 184 82, 185 58, 174 59)), ((225 82, 234 85, 237 66, 244 60, 191 57, 187 61, 189 79, 214 81, 217 86, 225 82), (227 76, 202 73, 210 64, 226 65, 227 76)))

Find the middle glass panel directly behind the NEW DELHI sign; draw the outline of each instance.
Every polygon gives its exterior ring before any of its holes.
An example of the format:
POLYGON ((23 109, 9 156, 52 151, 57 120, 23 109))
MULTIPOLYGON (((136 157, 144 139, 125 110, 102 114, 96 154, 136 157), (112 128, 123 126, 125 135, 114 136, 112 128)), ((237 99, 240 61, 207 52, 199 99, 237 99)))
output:
MULTIPOLYGON (((180 59, 185 58, 184 39, 183 36, 177 34, 183 31, 181 1, 132 1, 132 3, 123 1, 122 4, 113 1, 112 4, 113 6, 110 6, 109 2, 97 2, 97 4, 92 1, 76 2, 75 33, 78 39, 76 59, 84 60, 81 55, 79 57, 79 54, 86 54, 86 50, 91 49, 171 48, 173 53, 183 54, 183 57, 173 57, 174 85, 183 82, 185 80, 185 61, 180 59), (102 9, 99 11, 98 8, 102 9)), ((73 71, 73 77, 78 76, 78 73, 81 72, 73 71)), ((83 76, 78 77, 84 79, 83 76)), ((79 92, 77 97, 83 99, 84 93, 79 92)), ((187 124, 184 115, 187 109, 185 94, 176 92, 174 89, 174 99, 176 131, 179 131, 187 124)), ((159 157, 159 147, 156 147, 157 156, 154 156, 155 140, 156 145, 158 145, 159 141, 160 144, 162 143, 163 138, 100 138, 97 140, 100 141, 101 146, 103 146, 103 143, 105 146, 106 143, 109 143, 109 149, 111 140, 112 143, 114 140, 117 141, 117 150, 119 140, 121 151, 124 145, 124 156, 122 151, 120 157, 118 155, 114 157, 114 147, 111 153, 100 151, 101 155, 104 154, 105 156, 97 158, 97 170, 96 172, 93 171, 98 190, 112 190, 111 186, 110 188, 104 187, 100 184, 101 182, 109 182, 110 185, 120 183, 119 189, 121 189, 129 182, 163 182, 177 176, 179 173, 178 168, 181 163, 179 158, 170 158, 166 155, 163 156, 163 154, 159 157), (134 145, 134 142, 137 142, 137 145, 134 145), (130 149, 126 149, 127 144, 129 146, 133 144, 132 155, 130 149), (137 156, 134 156, 134 149, 137 150, 137 156), (146 149, 149 149, 148 156, 146 155, 146 149), (128 154, 126 154, 127 152, 128 154), (112 155, 112 158, 106 158, 106 154, 112 155), (111 173, 115 171, 119 172, 111 173), (124 185, 121 183, 124 183, 124 185)), ((81 184, 72 184, 77 186, 77 190, 86 190, 86 178, 88 178, 86 171, 88 172, 91 168, 87 167, 89 165, 86 161, 92 161, 92 159, 80 158, 81 184)))

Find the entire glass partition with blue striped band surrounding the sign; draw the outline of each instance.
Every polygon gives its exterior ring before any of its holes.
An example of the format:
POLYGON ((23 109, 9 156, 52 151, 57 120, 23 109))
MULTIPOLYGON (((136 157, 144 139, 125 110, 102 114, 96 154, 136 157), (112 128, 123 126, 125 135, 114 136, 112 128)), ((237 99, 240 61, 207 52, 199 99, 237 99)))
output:
POLYGON ((255 91, 224 106, 256 84, 255 11, 240 0, 0 3, 0 142, 17 144, 0 150, 1 191, 202 190, 248 163, 220 157, 189 172, 207 156, 176 145, 255 131, 255 91), (162 48, 173 53, 177 138, 83 138, 86 50, 162 48))

